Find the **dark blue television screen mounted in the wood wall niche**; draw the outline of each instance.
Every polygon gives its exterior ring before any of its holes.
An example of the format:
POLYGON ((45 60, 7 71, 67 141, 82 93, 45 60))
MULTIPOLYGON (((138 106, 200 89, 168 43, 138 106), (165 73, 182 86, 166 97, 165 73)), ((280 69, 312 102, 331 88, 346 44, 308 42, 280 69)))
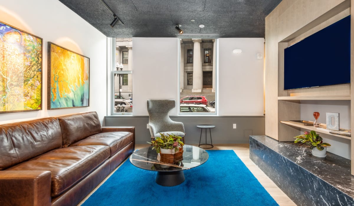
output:
POLYGON ((350 16, 284 49, 284 89, 350 83, 350 16))

